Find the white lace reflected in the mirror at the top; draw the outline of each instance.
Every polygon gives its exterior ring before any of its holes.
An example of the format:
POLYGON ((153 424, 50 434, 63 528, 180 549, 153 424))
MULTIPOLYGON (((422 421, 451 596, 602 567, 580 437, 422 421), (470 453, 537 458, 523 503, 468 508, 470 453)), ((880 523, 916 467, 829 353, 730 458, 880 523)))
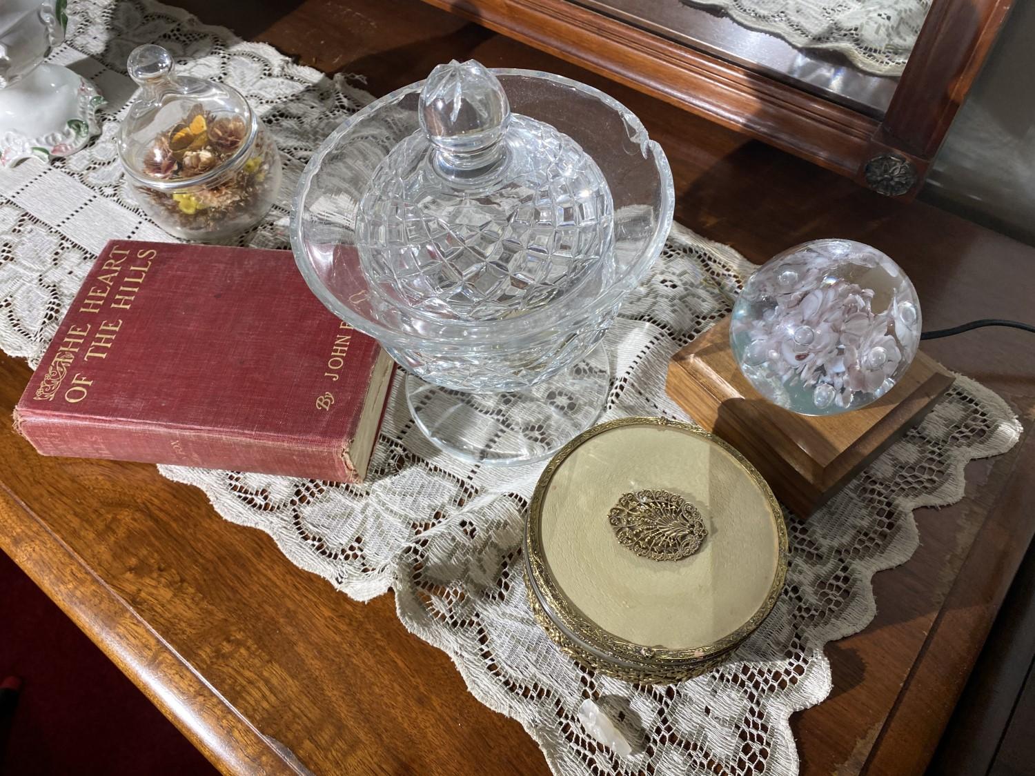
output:
POLYGON ((900 76, 930 0, 683 0, 799 49, 844 54, 861 70, 900 76))

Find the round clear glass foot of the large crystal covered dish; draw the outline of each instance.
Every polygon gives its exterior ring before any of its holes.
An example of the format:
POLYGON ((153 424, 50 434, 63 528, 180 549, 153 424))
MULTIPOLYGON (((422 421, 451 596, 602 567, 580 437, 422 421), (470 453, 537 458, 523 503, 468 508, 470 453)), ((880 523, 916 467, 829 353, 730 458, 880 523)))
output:
POLYGON ((538 385, 510 393, 465 393, 406 376, 417 426, 464 460, 516 466, 557 452, 600 417, 611 370, 602 346, 538 385))

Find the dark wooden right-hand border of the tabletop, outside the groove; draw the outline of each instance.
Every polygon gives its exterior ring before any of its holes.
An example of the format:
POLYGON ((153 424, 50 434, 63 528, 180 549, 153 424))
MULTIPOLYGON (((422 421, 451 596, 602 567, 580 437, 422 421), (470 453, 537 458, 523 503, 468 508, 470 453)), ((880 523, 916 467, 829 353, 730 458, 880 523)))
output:
MULTIPOLYGON (((1035 477, 1026 476, 1025 471, 1035 461, 1035 441, 1032 437, 1032 434, 1022 436, 1006 484, 979 532, 1007 531, 1010 520, 1006 515, 1010 511, 1010 503, 1035 503, 1035 477)), ((1010 547, 1006 554, 997 554, 998 542, 982 541, 980 536, 974 539, 906 684, 870 749, 863 769, 865 773, 922 774, 926 770, 1035 537, 1035 521, 1022 525, 1024 533, 1014 534, 1012 541, 1005 542, 1010 547), (975 589, 975 575, 968 573, 968 569, 988 565, 996 571, 975 589), (965 644, 960 644, 959 634, 968 636, 965 644), (947 671, 945 666, 952 666, 954 670, 947 671), (936 687, 942 689, 936 692, 936 687), (921 745, 917 746, 918 743, 921 745), (913 753, 912 762, 904 762, 904 752, 913 753)))

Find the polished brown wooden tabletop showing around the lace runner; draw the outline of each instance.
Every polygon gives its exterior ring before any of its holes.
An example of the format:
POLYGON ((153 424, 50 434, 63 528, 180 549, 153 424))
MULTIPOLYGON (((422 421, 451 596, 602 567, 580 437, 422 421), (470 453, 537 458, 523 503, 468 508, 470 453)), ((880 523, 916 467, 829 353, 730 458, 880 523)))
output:
MULTIPOLYGON (((580 78, 643 118, 673 166, 676 217, 700 234, 756 262, 811 238, 874 244, 913 278, 926 328, 1032 315, 1032 248, 417 0, 260 0, 247 14, 183 4, 307 64, 362 72, 377 94, 450 57, 580 78)), ((1035 337, 988 329, 925 349, 1029 425, 1035 337)), ((521 725, 406 632, 391 595, 350 600, 153 467, 37 456, 10 430, 28 378, 24 362, 0 358, 0 546, 220 769, 291 773, 290 750, 318 774, 548 773, 521 725)), ((830 697, 792 718, 802 773, 922 772, 1035 529, 1033 467, 1033 445, 1017 445, 968 467, 959 504, 918 510, 915 555, 875 577, 876 619, 827 648, 830 697)))

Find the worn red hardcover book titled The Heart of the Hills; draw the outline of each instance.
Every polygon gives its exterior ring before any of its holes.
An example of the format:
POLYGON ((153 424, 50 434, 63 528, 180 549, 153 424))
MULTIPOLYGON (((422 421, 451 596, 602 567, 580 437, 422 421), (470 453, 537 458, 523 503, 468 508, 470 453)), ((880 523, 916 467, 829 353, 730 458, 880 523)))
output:
POLYGON ((43 455, 363 478, 391 382, 287 250, 108 243, 14 409, 43 455))

